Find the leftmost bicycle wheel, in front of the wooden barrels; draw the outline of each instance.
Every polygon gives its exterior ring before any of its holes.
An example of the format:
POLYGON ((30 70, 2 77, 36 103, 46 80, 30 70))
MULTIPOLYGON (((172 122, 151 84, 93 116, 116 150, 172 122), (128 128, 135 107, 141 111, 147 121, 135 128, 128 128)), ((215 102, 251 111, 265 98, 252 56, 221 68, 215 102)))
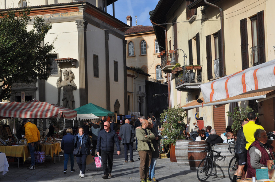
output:
POLYGON ((213 161, 210 157, 204 158, 200 163, 197 170, 197 177, 199 181, 206 181, 213 170, 213 161))

